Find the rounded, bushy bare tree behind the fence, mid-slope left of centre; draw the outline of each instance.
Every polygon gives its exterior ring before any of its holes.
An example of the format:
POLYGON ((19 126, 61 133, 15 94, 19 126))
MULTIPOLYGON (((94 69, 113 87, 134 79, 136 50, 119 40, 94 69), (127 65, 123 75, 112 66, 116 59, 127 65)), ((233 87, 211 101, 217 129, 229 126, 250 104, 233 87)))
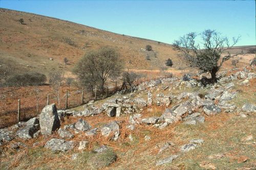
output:
POLYGON ((114 48, 101 47, 98 51, 90 51, 73 69, 81 84, 90 88, 97 85, 104 92, 104 84, 110 78, 119 76, 122 70, 120 55, 114 48))

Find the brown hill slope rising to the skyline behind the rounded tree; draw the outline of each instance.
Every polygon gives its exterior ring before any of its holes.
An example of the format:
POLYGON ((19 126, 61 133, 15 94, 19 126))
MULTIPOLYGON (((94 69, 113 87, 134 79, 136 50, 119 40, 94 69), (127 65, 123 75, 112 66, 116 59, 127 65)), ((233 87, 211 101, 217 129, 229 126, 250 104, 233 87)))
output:
POLYGON ((13 60, 20 69, 46 73, 59 69, 70 71, 86 52, 104 45, 115 47, 131 69, 154 69, 158 60, 163 64, 168 58, 173 59, 176 66, 180 65, 170 44, 3 8, 0 8, 0 18, 0 57, 2 62, 13 60), (18 21, 20 18, 25 24, 18 21), (154 52, 145 52, 147 44, 154 52), (151 60, 146 60, 146 55, 151 60), (67 66, 63 62, 65 57, 70 61, 67 66))

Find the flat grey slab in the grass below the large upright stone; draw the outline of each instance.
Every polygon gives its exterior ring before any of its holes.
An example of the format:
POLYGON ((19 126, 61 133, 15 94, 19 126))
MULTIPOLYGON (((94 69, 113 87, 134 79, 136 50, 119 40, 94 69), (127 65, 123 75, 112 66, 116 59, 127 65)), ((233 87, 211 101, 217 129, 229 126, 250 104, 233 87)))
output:
POLYGON ((53 138, 46 142, 45 148, 51 149, 52 151, 70 151, 74 148, 74 142, 73 141, 65 141, 63 139, 56 139, 53 138))

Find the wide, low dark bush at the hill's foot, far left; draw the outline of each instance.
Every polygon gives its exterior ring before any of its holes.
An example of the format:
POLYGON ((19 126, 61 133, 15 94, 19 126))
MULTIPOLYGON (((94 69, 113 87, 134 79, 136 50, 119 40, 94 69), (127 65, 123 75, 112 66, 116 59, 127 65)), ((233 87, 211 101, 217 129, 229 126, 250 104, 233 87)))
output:
POLYGON ((6 84, 9 86, 38 86, 46 82, 46 76, 38 72, 27 72, 11 75, 6 84))

